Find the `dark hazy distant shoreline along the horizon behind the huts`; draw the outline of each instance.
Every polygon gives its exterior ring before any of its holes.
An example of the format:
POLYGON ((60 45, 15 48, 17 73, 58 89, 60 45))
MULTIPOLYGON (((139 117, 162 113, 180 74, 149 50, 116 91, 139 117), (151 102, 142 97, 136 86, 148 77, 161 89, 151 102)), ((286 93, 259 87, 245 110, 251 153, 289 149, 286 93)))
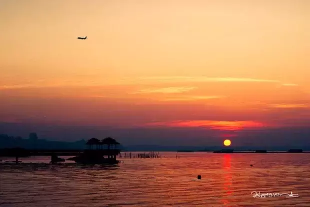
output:
MULTIPOLYGON (((85 138, 88 140, 89 138, 85 138)), ((0 149, 4 148, 24 148, 24 149, 57 149, 57 150, 84 150, 86 149, 86 141, 84 139, 75 142, 60 142, 49 141, 45 139, 38 139, 36 133, 30 133, 27 139, 20 136, 14 137, 6 134, 0 135, 0 149)), ((280 147, 267 147, 267 146, 162 146, 162 145, 127 145, 118 147, 121 151, 202 151, 212 152, 221 149, 233 149, 234 151, 254 151, 254 150, 267 150, 267 151, 287 151, 294 147, 280 146, 280 147)), ((310 151, 310 146, 303 146, 303 151, 310 151)))

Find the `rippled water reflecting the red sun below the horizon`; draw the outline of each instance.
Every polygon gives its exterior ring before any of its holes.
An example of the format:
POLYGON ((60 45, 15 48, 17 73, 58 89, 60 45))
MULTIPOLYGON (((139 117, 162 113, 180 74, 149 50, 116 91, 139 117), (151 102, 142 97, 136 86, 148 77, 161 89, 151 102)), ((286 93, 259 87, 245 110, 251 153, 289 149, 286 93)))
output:
POLYGON ((112 167, 49 164, 49 157, 2 162, 0 207, 310 206, 310 154, 175 155, 119 159, 124 162, 112 167), (253 198, 251 192, 299 198, 253 198))

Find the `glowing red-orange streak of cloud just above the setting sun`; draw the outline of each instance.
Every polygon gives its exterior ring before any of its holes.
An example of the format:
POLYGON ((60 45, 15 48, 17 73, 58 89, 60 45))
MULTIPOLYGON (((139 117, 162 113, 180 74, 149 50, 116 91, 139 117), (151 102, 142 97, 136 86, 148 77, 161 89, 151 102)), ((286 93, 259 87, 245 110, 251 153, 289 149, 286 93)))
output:
POLYGON ((214 130, 237 131, 244 128, 260 128, 264 125, 255 121, 212 121, 212 120, 191 120, 147 123, 144 126, 153 127, 202 127, 214 130))

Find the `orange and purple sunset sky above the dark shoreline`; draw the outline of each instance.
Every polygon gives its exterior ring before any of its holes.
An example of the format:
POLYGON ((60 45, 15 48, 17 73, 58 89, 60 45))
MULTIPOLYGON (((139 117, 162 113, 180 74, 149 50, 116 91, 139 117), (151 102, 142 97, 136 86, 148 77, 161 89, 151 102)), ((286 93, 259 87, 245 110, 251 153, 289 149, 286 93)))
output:
POLYGON ((0 134, 310 145, 309 11, 309 0, 0 0, 0 134))

